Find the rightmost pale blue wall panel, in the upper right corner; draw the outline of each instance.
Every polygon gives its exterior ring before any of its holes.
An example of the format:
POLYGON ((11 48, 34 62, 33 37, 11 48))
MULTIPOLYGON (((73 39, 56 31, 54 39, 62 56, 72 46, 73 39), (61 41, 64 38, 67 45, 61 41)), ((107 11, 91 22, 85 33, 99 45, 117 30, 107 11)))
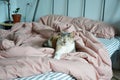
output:
POLYGON ((104 21, 120 24, 120 0, 106 0, 104 21))

